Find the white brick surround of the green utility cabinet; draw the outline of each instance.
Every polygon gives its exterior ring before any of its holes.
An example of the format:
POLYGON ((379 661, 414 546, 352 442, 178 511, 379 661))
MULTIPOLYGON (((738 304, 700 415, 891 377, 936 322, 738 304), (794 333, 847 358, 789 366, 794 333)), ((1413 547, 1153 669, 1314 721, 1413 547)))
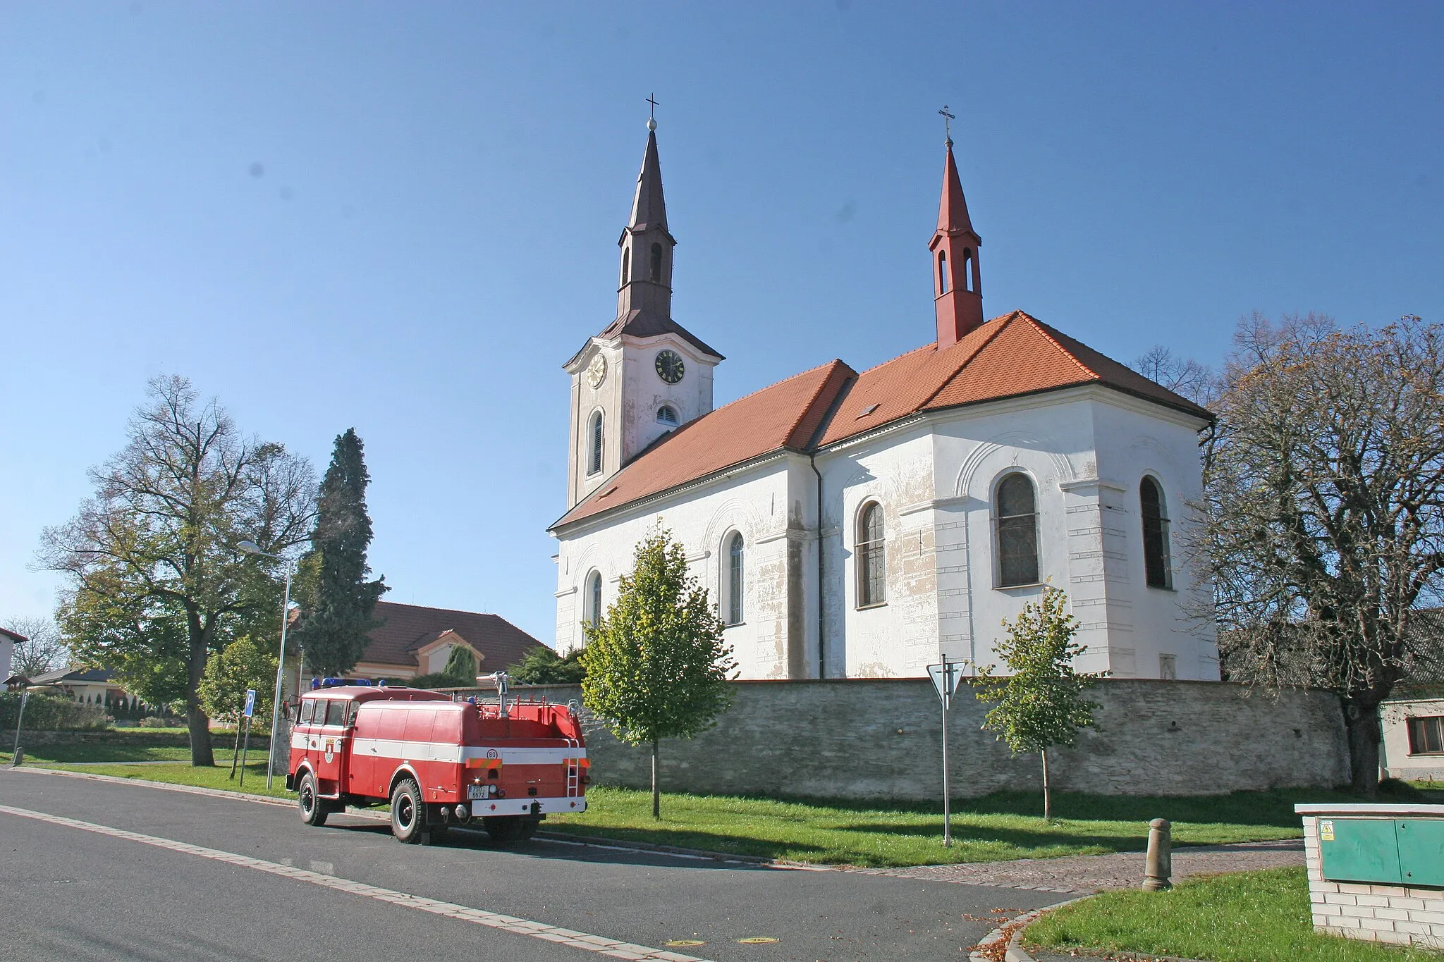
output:
POLYGON ((1444 948, 1444 890, 1327 881, 1318 816, 1304 816, 1308 899, 1314 929, 1366 942, 1444 948))

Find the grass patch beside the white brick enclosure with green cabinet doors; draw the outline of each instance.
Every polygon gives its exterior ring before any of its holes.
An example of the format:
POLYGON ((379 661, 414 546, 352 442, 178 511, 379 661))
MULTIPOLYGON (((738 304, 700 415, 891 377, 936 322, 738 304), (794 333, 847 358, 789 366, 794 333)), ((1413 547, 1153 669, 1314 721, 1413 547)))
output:
POLYGON ((1207 962, 1440 962, 1424 949, 1317 935, 1302 868, 1210 875, 1173 891, 1109 891, 1028 926, 1024 943, 1207 962))

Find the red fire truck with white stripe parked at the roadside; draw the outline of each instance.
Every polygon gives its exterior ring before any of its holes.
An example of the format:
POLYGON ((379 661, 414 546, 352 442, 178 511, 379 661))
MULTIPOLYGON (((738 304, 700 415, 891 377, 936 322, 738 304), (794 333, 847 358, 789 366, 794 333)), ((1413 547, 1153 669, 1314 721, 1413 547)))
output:
POLYGON ((325 679, 300 698, 286 787, 323 825, 347 805, 391 806, 391 832, 427 844, 452 825, 530 838, 552 812, 585 812, 588 760, 575 705, 507 702, 325 679))

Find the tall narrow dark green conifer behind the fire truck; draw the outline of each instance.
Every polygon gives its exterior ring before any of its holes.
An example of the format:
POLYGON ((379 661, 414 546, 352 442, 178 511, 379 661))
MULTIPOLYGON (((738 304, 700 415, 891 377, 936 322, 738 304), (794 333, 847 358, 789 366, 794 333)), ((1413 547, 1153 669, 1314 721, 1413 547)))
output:
POLYGON ((367 635, 381 625, 373 614, 387 590, 384 577, 371 574, 365 552, 371 544, 371 516, 365 489, 364 446, 355 428, 336 436, 331 466, 321 482, 316 528, 310 551, 299 565, 296 600, 300 614, 290 627, 306 662, 321 675, 341 675, 355 668, 367 635))

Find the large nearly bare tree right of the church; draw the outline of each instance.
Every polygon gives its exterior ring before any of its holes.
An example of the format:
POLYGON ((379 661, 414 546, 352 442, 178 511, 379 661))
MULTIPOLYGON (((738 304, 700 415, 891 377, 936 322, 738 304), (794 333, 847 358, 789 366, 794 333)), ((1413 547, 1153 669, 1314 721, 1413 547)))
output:
POLYGON ((1339 694, 1356 792, 1378 789, 1378 707, 1419 646, 1444 568, 1444 329, 1239 325, 1206 443, 1190 558, 1225 659, 1339 694))

